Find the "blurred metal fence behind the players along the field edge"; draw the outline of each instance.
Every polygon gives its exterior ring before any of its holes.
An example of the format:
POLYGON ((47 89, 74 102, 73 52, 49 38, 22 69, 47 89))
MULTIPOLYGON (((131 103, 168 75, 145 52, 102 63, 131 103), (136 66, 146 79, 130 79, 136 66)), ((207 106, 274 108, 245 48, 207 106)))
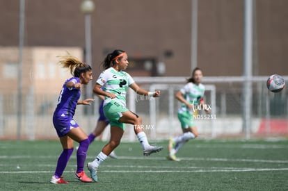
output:
MULTIPOLYGON (((243 77, 206 77, 203 84, 206 87, 205 103, 211 109, 206 115, 201 108, 195 109, 195 122, 198 126, 199 138, 228 138, 237 135, 240 138, 258 136, 282 137, 288 135, 288 91, 269 92, 266 88, 266 76, 253 77, 252 106, 250 107, 250 126, 243 126, 243 77), (248 137, 247 137, 247 132, 248 137)), ((147 90, 161 90, 161 97, 149 98, 137 95, 133 90, 127 94, 127 106, 138 113, 143 119, 141 128, 150 140, 166 140, 182 133, 177 119, 179 101, 175 93, 185 84, 185 77, 135 77, 134 80, 147 90)), ((287 83, 288 77, 285 76, 287 83)), ((52 115, 56 106, 58 94, 53 96, 28 94, 22 96, 22 126, 17 128, 17 95, 0 94, 0 139, 56 139, 56 131, 52 124, 52 115)), ((93 103, 92 113, 86 107, 77 106, 74 119, 90 133, 97 123, 99 100, 93 103)), ((109 127, 102 138, 109 138, 109 127)), ((134 141, 133 127, 127 125, 122 140, 134 141)))

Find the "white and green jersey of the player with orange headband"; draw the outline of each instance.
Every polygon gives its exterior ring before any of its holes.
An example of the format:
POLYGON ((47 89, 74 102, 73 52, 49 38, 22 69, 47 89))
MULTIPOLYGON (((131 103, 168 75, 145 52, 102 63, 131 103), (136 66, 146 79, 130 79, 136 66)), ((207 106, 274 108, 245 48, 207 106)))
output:
MULTIPOLYGON (((122 70, 118 72, 113 67, 109 67, 100 74, 96 83, 102 85, 105 92, 115 94, 116 97, 113 100, 126 108, 127 88, 132 83, 135 83, 134 79, 127 72, 122 70)), ((105 97, 104 106, 110 101, 110 97, 105 97)))

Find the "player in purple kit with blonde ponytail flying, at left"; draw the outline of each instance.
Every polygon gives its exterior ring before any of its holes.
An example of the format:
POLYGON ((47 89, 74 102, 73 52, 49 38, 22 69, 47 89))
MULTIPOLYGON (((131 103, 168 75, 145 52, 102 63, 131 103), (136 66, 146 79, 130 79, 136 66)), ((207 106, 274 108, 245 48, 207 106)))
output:
POLYGON ((79 101, 81 85, 86 85, 92 80, 92 68, 87 63, 82 63, 71 55, 61 56, 60 58, 59 63, 62 67, 69 68, 73 77, 67 79, 63 84, 53 115, 54 128, 62 144, 63 151, 58 158, 56 170, 50 183, 68 183, 63 179, 62 174, 72 155, 74 141, 79 142, 77 171, 74 178, 84 183, 90 183, 92 180, 83 170, 90 142, 86 133, 74 121, 73 116, 78 104, 90 106, 90 101, 94 101, 94 99, 79 101))

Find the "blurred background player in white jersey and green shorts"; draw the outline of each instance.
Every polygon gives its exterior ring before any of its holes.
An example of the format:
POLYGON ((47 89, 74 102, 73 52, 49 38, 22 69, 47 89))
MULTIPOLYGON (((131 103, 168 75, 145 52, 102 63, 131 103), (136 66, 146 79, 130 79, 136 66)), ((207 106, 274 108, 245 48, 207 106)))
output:
MULTIPOLYGON (((179 161, 179 158, 175 156, 177 151, 186 142, 198 136, 198 130, 193 120, 193 106, 197 104, 204 105, 205 86, 200 83, 201 79, 202 71, 197 67, 193 70, 192 76, 187 80, 186 85, 175 95, 176 99, 182 102, 182 106, 178 110, 178 119, 181 123, 183 134, 176 138, 170 138, 168 144, 169 160, 179 161)), ((205 111, 209 113, 209 110, 205 111)))

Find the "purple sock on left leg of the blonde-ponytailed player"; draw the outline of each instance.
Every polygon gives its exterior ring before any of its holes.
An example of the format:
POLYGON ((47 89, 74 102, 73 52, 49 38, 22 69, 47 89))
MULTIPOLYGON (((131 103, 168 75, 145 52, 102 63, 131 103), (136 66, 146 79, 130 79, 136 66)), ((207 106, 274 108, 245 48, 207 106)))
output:
POLYGON ((72 153, 73 153, 73 148, 72 149, 63 149, 61 155, 58 158, 56 170, 54 173, 55 178, 60 178, 62 176, 64 169, 65 169, 72 153))

